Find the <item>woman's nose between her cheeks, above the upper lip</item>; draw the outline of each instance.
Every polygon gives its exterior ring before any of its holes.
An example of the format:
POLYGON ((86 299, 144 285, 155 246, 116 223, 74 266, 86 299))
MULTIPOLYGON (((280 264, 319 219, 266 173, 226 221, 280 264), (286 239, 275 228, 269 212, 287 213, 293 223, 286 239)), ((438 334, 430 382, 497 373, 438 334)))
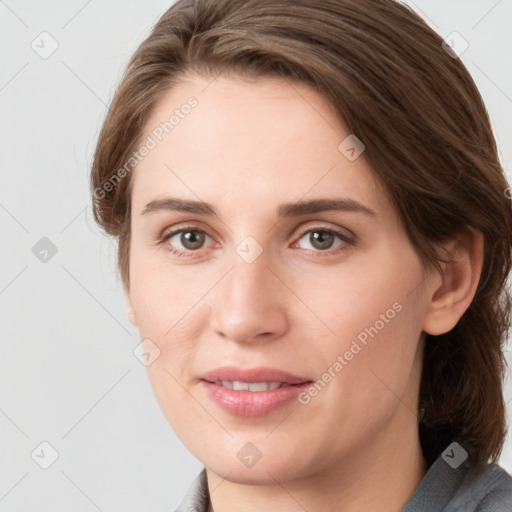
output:
POLYGON ((237 253, 226 277, 216 287, 211 323, 214 332, 237 343, 279 338, 288 329, 290 292, 269 266, 263 252, 248 263, 237 253))

